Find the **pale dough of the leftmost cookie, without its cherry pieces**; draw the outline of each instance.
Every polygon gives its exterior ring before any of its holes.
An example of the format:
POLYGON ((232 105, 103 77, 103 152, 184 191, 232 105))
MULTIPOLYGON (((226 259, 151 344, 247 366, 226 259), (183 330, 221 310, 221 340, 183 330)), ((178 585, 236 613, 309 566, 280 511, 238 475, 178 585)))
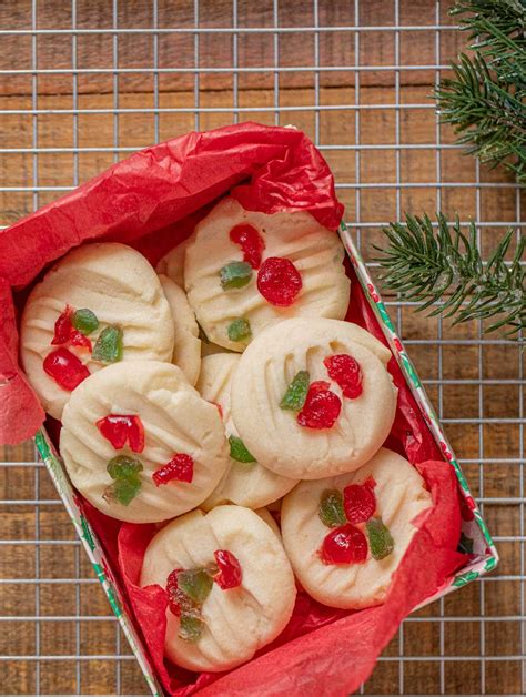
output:
MULTIPOLYGON (((28 297, 20 325, 20 354, 26 374, 44 410, 61 418, 70 392, 43 370, 54 325, 67 306, 89 309, 99 326, 89 334, 92 346, 109 326, 122 330, 122 361, 171 361, 173 320, 158 275, 130 246, 118 243, 82 245, 69 252, 38 283, 28 297)), ((68 346, 90 373, 104 363, 91 352, 68 346)))

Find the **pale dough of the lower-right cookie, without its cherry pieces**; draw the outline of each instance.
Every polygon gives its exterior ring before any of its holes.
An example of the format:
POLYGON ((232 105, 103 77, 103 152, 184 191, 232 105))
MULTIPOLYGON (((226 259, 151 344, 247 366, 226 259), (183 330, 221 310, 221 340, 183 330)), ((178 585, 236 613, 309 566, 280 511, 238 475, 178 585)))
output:
MULTIPOLYGON (((316 482, 301 482, 283 499, 281 529, 283 544, 303 588, 331 607, 362 609, 385 600, 393 574, 409 546, 415 526, 412 522, 432 505, 429 492, 418 472, 404 457, 386 448, 356 472, 316 482), (375 559, 366 523, 357 523, 367 539, 367 556, 361 564, 324 564, 321 549, 331 528, 322 523, 320 502, 324 492, 364 484, 368 477, 376 509, 373 518, 383 521, 393 538, 388 556, 375 559)), ((372 519, 372 518, 370 518, 372 519)))

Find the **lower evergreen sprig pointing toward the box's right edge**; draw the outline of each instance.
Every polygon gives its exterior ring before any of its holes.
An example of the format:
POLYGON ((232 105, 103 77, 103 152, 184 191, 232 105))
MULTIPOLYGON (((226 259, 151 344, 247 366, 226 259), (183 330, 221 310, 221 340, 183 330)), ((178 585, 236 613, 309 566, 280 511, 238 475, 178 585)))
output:
POLYGON ((495 322, 485 329, 493 332, 507 326, 512 335, 526 327, 525 269, 522 259, 526 236, 516 244, 510 262, 505 256, 514 238, 514 229, 507 230, 487 262, 483 262, 477 246, 475 224, 467 234, 461 230, 458 216, 449 224, 443 213, 437 213, 438 228, 432 221, 406 213, 406 222, 390 223, 383 228, 387 236, 386 250, 376 259, 385 273, 384 286, 404 295, 405 300, 422 303, 417 312, 438 305, 431 315, 456 315, 453 324, 467 320, 495 322))

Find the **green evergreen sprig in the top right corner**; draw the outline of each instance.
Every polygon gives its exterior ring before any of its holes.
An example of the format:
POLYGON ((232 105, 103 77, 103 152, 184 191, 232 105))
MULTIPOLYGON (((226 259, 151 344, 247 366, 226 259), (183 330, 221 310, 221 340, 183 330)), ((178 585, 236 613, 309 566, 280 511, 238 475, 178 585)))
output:
POLYGON ((435 90, 442 121, 482 162, 526 181, 526 1, 457 0, 451 14, 473 54, 462 53, 435 90))

